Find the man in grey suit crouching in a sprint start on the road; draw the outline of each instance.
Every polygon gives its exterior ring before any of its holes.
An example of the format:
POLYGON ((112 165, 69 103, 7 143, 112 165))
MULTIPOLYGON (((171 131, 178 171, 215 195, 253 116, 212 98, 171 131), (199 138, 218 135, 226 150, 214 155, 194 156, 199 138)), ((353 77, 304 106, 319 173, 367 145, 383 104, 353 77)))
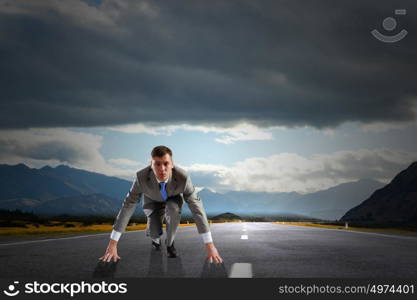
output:
POLYGON ((177 256, 174 246, 175 234, 181 219, 183 201, 191 210, 197 231, 207 249, 209 262, 222 263, 210 232, 207 216, 201 198, 195 192, 190 176, 185 170, 174 166, 172 151, 166 146, 157 146, 151 152, 151 165, 139 170, 132 187, 127 193, 113 225, 110 241, 102 257, 102 261, 117 261, 117 243, 135 211, 137 202, 143 194, 143 210, 147 216, 146 235, 152 239, 154 251, 161 249, 162 223, 166 223, 165 246, 171 258, 177 256))

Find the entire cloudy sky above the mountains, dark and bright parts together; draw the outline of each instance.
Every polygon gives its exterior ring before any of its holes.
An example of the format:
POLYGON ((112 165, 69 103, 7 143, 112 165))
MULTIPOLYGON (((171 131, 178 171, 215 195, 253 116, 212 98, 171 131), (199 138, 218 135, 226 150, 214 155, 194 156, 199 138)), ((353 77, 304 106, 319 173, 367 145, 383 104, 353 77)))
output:
POLYGON ((218 191, 389 182, 417 160, 416 15, 411 0, 0 0, 0 163, 131 180, 164 144, 218 191))

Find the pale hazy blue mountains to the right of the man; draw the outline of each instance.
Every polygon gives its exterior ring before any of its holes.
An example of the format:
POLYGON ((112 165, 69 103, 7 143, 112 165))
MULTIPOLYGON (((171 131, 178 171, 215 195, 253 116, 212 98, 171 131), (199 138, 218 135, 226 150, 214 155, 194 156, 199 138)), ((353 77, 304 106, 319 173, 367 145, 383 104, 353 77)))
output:
MULTIPOLYGON (((238 215, 300 215, 338 220, 382 186, 379 181, 361 179, 305 195, 240 191, 221 194, 208 189, 201 190, 199 195, 212 215, 229 211, 238 215)), ((190 214, 186 205, 183 211, 190 214)))

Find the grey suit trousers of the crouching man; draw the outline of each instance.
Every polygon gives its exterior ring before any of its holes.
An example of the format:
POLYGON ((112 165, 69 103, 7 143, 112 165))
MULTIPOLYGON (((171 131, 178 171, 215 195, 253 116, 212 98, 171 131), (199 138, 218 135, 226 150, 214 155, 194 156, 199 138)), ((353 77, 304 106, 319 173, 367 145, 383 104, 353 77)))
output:
POLYGON ((181 195, 170 197, 166 202, 155 202, 155 209, 147 217, 146 235, 152 239, 159 238, 162 235, 162 224, 165 219, 166 243, 167 246, 171 246, 180 224, 182 202, 181 195))

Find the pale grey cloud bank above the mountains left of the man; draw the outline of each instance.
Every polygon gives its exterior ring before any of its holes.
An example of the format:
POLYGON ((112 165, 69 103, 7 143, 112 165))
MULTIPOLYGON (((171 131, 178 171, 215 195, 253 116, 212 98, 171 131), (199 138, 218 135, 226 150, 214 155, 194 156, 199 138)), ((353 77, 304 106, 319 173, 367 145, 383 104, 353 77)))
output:
POLYGON ((131 180, 143 163, 100 153, 102 136, 62 128, 0 130, 0 164, 70 165, 131 180))

